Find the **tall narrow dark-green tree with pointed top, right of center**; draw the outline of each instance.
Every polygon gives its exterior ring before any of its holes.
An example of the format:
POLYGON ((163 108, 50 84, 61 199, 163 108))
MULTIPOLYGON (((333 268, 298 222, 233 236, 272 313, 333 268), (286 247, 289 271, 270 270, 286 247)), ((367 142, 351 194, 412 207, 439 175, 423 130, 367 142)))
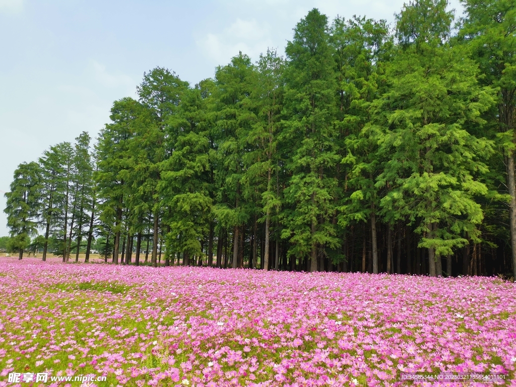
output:
POLYGON ((335 141, 335 65, 329 44, 328 19, 317 9, 301 20, 286 46, 285 121, 283 141, 292 149, 292 178, 285 190, 284 238, 289 254, 310 254, 310 271, 318 270, 318 254, 340 241, 330 222, 335 212, 336 180, 329 171, 338 162, 335 141))

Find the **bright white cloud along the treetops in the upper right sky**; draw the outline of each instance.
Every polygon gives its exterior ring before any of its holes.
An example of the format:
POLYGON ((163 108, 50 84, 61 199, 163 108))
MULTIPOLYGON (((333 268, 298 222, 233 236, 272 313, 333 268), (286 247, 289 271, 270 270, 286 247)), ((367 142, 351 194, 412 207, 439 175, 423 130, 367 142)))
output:
MULTIPOLYGON (((449 0, 450 8, 460 8, 459 0, 449 0)), ((209 30, 197 45, 213 65, 228 63, 242 51, 257 60, 268 47, 282 54, 292 29, 312 8, 328 16, 331 24, 337 15, 350 19, 353 15, 375 20, 385 19, 394 26, 394 13, 399 13, 406 0, 222 0, 233 22, 222 30, 209 30)), ((228 25, 228 24, 227 24, 228 25)))

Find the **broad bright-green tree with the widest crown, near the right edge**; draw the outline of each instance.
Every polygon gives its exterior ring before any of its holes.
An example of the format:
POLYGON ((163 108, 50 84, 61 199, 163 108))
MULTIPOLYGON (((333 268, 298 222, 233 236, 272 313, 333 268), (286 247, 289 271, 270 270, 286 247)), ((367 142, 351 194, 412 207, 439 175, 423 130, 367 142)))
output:
POLYGON ((468 243, 466 236, 478 241, 483 214, 475 198, 487 187, 476 175, 488 171, 492 153, 492 142, 463 128, 483 124, 491 90, 478 85, 477 66, 463 47, 449 44, 453 14, 445 8, 445 1, 418 0, 398 15, 401 51, 370 125, 385 160, 376 186, 392 186, 382 207, 417 224, 431 276, 442 275, 440 257, 468 243))

